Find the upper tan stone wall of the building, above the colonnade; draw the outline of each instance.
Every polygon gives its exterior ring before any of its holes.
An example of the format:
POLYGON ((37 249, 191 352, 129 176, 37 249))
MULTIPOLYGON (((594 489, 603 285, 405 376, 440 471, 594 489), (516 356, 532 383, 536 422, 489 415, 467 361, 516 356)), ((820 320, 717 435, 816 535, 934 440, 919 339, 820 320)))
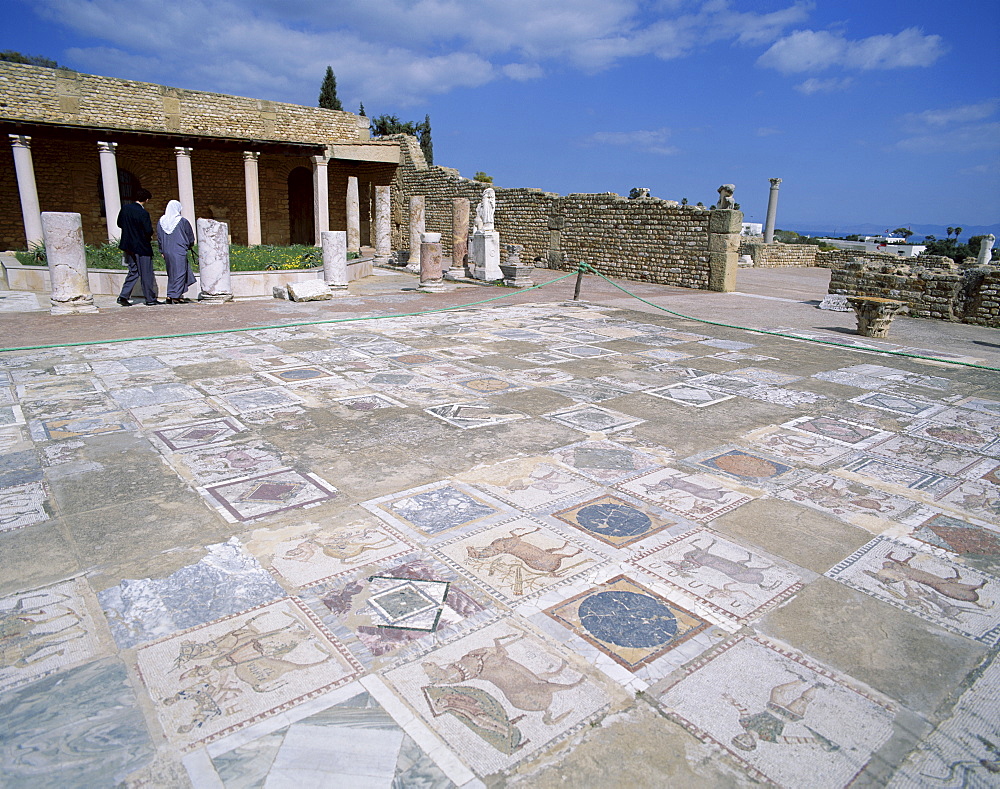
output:
POLYGON ((0 62, 0 118, 297 143, 368 139, 351 112, 0 62))

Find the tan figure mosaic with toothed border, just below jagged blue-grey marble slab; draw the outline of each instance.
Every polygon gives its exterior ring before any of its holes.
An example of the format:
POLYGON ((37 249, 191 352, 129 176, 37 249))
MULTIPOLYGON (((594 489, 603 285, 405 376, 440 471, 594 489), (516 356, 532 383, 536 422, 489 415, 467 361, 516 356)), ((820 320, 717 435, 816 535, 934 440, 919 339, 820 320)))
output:
POLYGON ((354 679, 361 666, 294 599, 140 646, 138 668, 163 730, 182 750, 354 679))

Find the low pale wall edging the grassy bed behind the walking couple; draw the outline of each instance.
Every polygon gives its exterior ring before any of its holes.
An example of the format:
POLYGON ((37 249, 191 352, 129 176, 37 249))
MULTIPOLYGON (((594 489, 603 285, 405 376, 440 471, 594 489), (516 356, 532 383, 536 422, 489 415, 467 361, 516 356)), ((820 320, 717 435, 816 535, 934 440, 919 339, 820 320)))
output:
MULTIPOLYGON (((5 270, 7 287, 10 290, 27 290, 33 293, 49 293, 49 270, 45 266, 22 266, 15 259, 6 257, 0 262, 5 270)), ((371 275, 373 270, 371 258, 350 260, 347 263, 347 279, 349 282, 371 275)), ((90 281, 90 292, 95 296, 117 296, 125 283, 128 272, 118 269, 87 269, 90 281)), ((197 274, 195 275, 197 276, 197 274)), ((288 271, 234 271, 232 272, 233 296, 249 298, 253 296, 270 296, 273 288, 287 285, 290 282, 309 282, 323 279, 323 269, 289 269, 288 271)), ((160 296, 167 292, 167 274, 156 272, 156 287, 160 296)), ((200 292, 200 282, 195 282, 187 293, 188 298, 197 298, 200 292)), ((142 290, 136 284, 134 293, 141 295, 142 290)))

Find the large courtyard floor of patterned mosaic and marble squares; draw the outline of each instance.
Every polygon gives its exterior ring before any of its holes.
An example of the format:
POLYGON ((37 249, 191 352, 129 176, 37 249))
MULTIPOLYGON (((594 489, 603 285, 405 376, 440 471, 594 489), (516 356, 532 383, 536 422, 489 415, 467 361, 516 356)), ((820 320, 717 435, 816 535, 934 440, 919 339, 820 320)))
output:
POLYGON ((554 304, 2 353, 0 785, 614 785, 631 726, 995 786, 998 524, 988 370, 554 304))

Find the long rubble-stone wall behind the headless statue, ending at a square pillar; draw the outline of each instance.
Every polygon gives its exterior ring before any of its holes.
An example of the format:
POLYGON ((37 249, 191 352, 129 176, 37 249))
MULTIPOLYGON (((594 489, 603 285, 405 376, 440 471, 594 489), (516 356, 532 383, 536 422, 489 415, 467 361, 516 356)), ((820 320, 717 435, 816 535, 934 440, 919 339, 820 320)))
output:
MULTIPOLYGON (((426 228, 441 233, 445 252, 451 254, 452 199, 469 199, 471 227, 488 184, 462 178, 456 170, 428 166, 412 137, 392 139, 402 143, 392 184, 393 248, 409 245, 409 200, 422 195, 426 228)), ((658 198, 629 200, 611 192, 561 196, 540 189, 495 191, 500 243, 523 246, 525 262, 570 269, 584 261, 607 276, 625 279, 699 289, 735 286, 742 222, 738 211, 712 212, 658 198), (720 221, 710 233, 713 213, 720 221), (727 265, 732 269, 728 276, 727 265)))

